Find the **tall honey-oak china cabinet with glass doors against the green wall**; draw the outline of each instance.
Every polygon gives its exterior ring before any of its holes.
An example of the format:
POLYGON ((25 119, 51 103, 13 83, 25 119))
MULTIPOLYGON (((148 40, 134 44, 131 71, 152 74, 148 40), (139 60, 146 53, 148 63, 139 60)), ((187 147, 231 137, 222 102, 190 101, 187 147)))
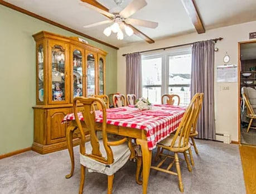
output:
MULTIPOLYGON (((105 94, 107 52, 79 41, 41 31, 36 41, 36 106, 32 149, 41 154, 66 148, 66 114, 76 96, 105 94)), ((83 108, 81 107, 81 111, 83 108)), ((74 134, 74 144, 79 144, 74 134)))

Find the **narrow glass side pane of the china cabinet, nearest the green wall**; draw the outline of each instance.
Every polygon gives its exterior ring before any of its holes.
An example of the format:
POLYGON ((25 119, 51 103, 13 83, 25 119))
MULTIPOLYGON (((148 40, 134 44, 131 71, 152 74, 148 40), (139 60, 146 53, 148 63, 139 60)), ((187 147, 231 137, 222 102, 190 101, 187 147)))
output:
POLYGON ((44 47, 42 45, 38 46, 37 49, 37 68, 38 68, 38 101, 44 101, 44 47))

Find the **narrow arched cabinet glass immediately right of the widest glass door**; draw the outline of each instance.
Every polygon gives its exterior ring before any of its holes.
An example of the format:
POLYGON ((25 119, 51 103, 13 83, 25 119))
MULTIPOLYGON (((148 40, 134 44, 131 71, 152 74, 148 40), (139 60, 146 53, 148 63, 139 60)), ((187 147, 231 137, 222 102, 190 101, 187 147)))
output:
POLYGON ((83 96, 83 55, 78 49, 73 50, 73 98, 83 96))

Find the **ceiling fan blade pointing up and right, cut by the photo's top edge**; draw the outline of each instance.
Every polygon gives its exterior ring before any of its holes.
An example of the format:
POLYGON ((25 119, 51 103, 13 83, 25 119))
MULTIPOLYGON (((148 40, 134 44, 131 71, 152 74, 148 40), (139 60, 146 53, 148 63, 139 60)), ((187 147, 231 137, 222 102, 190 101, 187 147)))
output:
POLYGON ((123 18, 128 18, 142 7, 145 7, 146 5, 147 2, 145 0, 133 0, 130 4, 128 4, 127 7, 125 7, 120 12, 120 16, 122 16, 123 18))

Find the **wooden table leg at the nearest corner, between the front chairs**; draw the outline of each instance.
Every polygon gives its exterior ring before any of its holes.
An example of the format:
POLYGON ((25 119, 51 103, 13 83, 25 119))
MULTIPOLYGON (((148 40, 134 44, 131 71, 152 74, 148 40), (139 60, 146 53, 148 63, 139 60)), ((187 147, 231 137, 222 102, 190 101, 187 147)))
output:
POLYGON ((137 139, 137 144, 141 146, 142 151, 142 177, 143 177, 143 194, 147 193, 148 177, 151 167, 152 151, 148 149, 148 142, 146 139, 137 139))

